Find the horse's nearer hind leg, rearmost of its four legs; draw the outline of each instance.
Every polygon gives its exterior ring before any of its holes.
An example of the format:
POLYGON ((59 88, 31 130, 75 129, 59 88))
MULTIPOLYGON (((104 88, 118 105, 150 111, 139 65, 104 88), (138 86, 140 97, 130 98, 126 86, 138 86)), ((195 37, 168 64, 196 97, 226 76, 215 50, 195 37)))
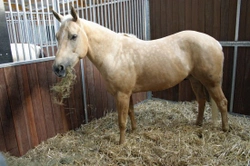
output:
POLYGON ((222 130, 228 131, 228 117, 227 117, 227 99, 222 92, 221 85, 217 84, 213 87, 207 87, 207 90, 210 94, 210 96, 214 99, 215 103, 217 104, 220 113, 221 113, 221 119, 222 119, 222 130))

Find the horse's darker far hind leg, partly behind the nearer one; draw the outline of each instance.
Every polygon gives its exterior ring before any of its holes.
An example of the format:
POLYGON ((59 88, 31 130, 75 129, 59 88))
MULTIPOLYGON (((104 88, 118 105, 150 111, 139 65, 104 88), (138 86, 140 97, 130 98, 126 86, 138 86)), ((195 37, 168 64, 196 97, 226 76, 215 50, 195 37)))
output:
POLYGON ((206 103, 206 94, 204 93, 204 86, 201 84, 199 80, 193 77, 190 77, 189 81, 191 83, 192 89, 196 96, 196 100, 198 102, 198 116, 196 120, 196 125, 201 126, 204 116, 205 103, 206 103))

